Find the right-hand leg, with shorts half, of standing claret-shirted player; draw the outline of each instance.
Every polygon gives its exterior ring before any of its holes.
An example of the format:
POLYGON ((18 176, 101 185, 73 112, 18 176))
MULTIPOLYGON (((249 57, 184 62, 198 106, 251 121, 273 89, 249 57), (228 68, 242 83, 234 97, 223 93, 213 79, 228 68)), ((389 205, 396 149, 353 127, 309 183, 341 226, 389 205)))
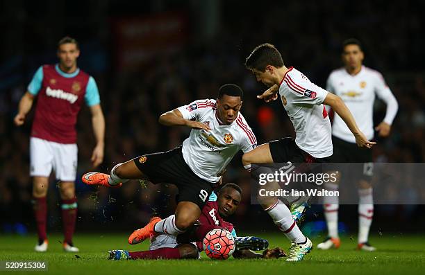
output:
POLYGON ((72 237, 74 236, 77 199, 75 195, 76 168, 78 163, 78 148, 76 144, 54 143, 53 148, 53 168, 56 179, 60 181, 60 209, 62 211, 63 224, 63 249, 67 252, 78 252, 74 247, 72 237))

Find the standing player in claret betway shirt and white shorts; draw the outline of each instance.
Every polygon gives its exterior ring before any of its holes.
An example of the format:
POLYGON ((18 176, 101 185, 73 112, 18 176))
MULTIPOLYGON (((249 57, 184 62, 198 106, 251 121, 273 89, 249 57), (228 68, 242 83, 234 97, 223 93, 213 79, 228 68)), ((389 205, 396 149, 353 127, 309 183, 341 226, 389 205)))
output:
POLYGON ((65 251, 76 252, 74 234, 77 201, 74 181, 77 167, 75 124, 81 105, 85 102, 92 113, 92 125, 97 145, 93 150, 93 166, 103 161, 105 119, 100 105, 99 91, 94 78, 78 69, 78 43, 65 37, 58 43, 59 64, 43 65, 28 85, 19 102, 15 124, 24 124, 26 114, 38 98, 30 138, 30 175, 33 177, 33 203, 38 230, 35 251, 47 251, 47 204, 49 175, 55 170, 60 181, 65 251))

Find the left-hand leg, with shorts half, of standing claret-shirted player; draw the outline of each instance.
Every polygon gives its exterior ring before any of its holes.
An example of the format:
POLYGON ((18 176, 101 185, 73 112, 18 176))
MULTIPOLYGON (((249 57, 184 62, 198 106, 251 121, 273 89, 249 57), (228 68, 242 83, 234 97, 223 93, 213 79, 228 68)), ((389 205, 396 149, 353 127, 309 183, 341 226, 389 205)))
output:
POLYGON ((47 251, 47 190, 53 166, 53 153, 49 141, 30 139, 30 176, 33 177, 33 209, 37 222, 38 244, 35 251, 47 251))

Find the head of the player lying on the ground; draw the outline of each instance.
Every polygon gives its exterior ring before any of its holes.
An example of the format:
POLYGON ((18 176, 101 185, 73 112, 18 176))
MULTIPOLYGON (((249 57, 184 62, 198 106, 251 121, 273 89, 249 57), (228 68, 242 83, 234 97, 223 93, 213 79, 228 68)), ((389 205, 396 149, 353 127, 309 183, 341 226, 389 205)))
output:
POLYGON ((224 184, 217 196, 219 214, 222 217, 233 215, 242 199, 242 189, 236 184, 224 184))

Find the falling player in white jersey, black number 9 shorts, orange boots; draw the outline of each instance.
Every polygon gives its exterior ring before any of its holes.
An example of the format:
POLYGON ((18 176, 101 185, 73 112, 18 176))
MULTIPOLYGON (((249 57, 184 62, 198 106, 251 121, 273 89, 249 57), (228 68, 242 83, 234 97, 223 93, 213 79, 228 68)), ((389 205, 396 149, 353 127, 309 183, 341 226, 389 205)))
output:
POLYGON ((177 236, 191 227, 235 154, 256 147, 256 136, 240 114, 242 96, 240 87, 226 84, 220 87, 217 100, 196 100, 162 114, 159 122, 163 125, 192 128, 183 146, 119 163, 110 175, 99 172, 83 175, 85 184, 103 186, 121 186, 128 179, 176 184, 175 215, 164 220, 153 217, 147 226, 131 234, 130 244, 142 242, 156 233, 177 236))

